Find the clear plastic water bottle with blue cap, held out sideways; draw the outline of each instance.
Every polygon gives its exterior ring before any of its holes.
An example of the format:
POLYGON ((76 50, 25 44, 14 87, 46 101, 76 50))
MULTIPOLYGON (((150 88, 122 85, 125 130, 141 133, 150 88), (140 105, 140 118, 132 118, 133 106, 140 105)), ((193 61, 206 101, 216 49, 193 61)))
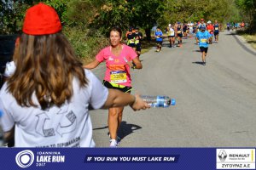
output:
POLYGON ((171 99, 168 96, 149 96, 149 95, 140 95, 140 97, 148 103, 151 107, 169 107, 170 105, 176 105, 176 100, 171 99))

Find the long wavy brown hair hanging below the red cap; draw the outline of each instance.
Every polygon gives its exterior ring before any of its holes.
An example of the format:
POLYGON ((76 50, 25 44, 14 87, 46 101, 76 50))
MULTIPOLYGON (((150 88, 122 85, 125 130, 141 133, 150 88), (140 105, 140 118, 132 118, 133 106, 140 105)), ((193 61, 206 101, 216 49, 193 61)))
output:
POLYGON ((16 71, 7 81, 8 90, 21 106, 37 106, 33 94, 43 109, 61 106, 73 95, 74 77, 80 87, 87 84, 82 63, 61 32, 43 36, 23 33, 14 61, 16 71))

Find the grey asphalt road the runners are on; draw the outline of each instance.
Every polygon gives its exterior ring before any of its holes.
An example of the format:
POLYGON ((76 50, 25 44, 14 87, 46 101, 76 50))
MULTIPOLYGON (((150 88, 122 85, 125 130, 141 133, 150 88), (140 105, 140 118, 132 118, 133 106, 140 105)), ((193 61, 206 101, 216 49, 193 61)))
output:
MULTIPOLYGON (((126 107, 119 147, 255 147, 256 51, 241 37, 221 32, 207 65, 195 39, 183 48, 143 54, 143 70, 131 71, 133 94, 168 95, 170 108, 134 112, 126 107)), ((95 72, 102 80, 104 64, 95 72)), ((108 147, 108 111, 90 111, 97 147, 108 147)))

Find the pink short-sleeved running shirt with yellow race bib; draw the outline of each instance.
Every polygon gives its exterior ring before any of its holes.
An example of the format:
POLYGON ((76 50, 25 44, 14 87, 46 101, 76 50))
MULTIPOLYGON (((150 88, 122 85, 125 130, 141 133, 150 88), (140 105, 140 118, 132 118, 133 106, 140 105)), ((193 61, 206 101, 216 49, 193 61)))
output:
POLYGON ((126 61, 135 59, 137 54, 131 47, 122 44, 123 48, 121 53, 119 56, 115 56, 111 53, 110 47, 111 46, 103 48, 100 53, 96 55, 96 59, 99 62, 106 62, 107 70, 104 80, 131 87, 130 66, 126 64, 126 61))

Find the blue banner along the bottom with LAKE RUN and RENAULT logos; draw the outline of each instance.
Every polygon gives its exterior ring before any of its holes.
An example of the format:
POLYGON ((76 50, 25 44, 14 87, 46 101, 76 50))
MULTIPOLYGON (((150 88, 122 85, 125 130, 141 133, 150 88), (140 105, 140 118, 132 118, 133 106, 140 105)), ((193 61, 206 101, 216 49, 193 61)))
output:
POLYGON ((255 149, 0 148, 1 169, 255 169, 255 149))

